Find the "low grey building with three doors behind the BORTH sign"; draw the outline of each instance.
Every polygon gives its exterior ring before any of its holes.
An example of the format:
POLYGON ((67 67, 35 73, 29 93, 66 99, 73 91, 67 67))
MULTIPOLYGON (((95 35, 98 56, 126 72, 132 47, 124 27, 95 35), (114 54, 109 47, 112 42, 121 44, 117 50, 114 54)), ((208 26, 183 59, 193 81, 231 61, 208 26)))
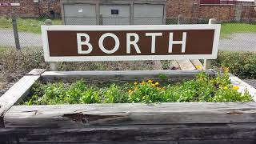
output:
POLYGON ((160 25, 166 0, 61 0, 66 25, 160 25))

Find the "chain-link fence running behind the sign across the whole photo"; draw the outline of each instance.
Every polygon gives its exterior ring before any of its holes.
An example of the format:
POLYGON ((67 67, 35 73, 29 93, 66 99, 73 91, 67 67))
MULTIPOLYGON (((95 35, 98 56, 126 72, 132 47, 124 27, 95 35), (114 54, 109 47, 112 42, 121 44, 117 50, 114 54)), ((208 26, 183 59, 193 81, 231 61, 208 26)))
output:
MULTIPOLYGON (((0 47, 42 47, 41 25, 45 19, 37 18, 0 18, 0 47), (13 25, 17 23, 17 29, 13 25), (15 40, 16 38, 16 40, 15 40), (19 46, 17 44, 19 42, 19 46)), ((52 20, 54 25, 62 24, 61 19, 52 20)), ((103 17, 101 25, 127 25, 130 18, 103 17)), ((96 25, 96 18, 70 18, 65 19, 70 25, 96 25), (68 20, 68 21, 67 21, 68 20)), ((160 25, 161 18, 139 18, 133 19, 134 25, 160 25)), ((202 18, 166 18, 166 25, 178 24, 207 24, 207 19, 202 18)), ((241 22, 221 22, 221 39, 219 50, 229 51, 256 51, 256 19, 242 19, 241 22)))

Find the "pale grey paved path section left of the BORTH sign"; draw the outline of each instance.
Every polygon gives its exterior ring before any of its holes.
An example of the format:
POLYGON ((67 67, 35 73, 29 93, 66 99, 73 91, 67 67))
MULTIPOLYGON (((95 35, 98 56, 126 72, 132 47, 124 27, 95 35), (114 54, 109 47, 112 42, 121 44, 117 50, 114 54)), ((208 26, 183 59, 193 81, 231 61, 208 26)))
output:
MULTIPOLYGON (((41 34, 19 32, 20 45, 42 46, 41 34)), ((15 46, 13 30, 0 30, 0 46, 15 46)))

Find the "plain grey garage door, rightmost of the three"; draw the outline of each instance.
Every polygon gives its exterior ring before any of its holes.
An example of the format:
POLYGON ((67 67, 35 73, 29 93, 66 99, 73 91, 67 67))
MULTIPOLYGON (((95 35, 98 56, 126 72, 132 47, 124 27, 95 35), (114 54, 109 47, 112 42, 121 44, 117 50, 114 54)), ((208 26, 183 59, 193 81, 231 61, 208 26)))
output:
POLYGON ((163 5, 135 4, 134 25, 162 25, 163 5))

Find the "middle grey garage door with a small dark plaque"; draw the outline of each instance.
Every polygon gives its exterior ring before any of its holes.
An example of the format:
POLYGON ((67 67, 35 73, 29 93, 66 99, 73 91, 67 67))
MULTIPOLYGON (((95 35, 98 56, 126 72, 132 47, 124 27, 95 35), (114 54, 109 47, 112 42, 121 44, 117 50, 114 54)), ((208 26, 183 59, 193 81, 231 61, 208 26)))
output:
POLYGON ((130 5, 101 5, 103 25, 130 25, 130 5))

